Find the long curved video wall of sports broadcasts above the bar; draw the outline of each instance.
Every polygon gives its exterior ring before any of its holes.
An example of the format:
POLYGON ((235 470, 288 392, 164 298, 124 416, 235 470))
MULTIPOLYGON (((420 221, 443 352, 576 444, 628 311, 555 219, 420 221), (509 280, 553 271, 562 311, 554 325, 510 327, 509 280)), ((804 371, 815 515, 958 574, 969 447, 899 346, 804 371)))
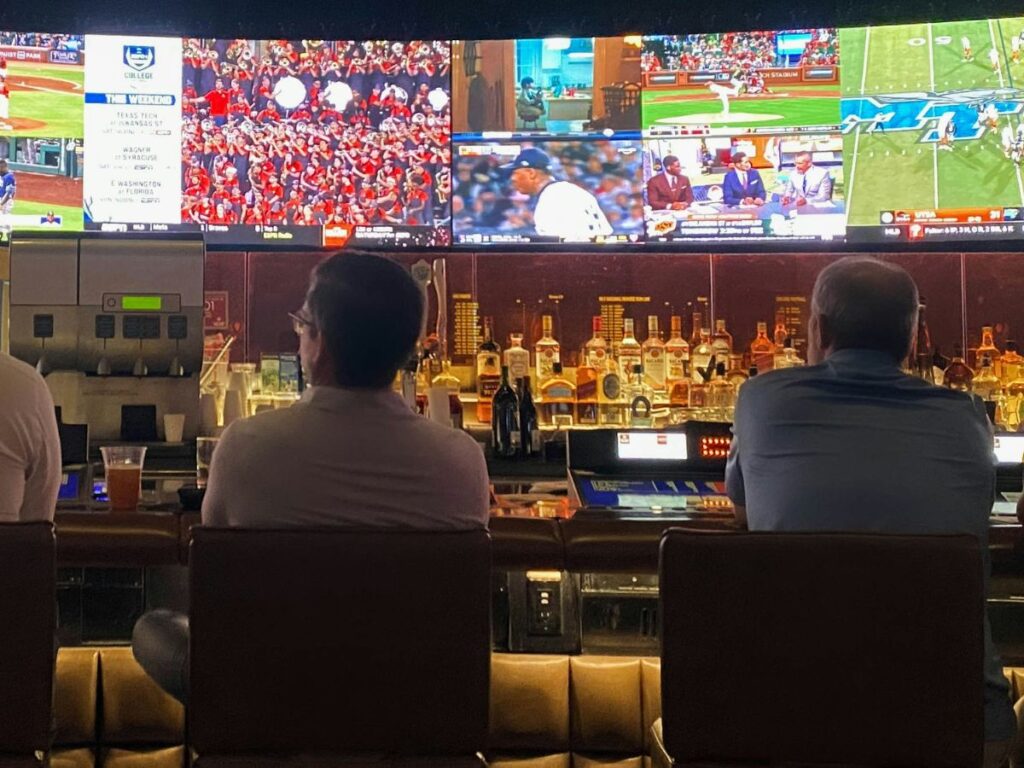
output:
POLYGON ((457 41, 0 32, 0 233, 1014 240, 1022 42, 1024 16, 457 41))

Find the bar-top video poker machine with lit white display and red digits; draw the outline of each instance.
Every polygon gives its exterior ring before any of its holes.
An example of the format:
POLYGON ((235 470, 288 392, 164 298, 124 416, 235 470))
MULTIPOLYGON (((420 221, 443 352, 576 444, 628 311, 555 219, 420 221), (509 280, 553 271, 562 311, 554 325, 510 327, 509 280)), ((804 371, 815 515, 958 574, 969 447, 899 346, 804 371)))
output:
POLYGON ((581 518, 692 519, 731 512, 725 462, 731 426, 568 433, 569 496, 581 518))

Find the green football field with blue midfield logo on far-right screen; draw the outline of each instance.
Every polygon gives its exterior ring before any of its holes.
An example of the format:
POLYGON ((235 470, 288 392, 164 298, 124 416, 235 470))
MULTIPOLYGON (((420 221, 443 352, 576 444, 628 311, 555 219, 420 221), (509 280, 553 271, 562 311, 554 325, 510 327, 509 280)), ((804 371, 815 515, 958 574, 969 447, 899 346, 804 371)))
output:
POLYGON ((885 210, 1024 206, 1021 169, 999 136, 1022 118, 1024 63, 1012 53, 1022 31, 1024 17, 840 31, 851 226, 877 226, 885 210), (987 103, 998 104, 998 129, 977 120, 987 103), (893 111, 898 119, 873 128, 857 122, 893 111), (943 115, 956 123, 951 150, 937 140, 943 115))

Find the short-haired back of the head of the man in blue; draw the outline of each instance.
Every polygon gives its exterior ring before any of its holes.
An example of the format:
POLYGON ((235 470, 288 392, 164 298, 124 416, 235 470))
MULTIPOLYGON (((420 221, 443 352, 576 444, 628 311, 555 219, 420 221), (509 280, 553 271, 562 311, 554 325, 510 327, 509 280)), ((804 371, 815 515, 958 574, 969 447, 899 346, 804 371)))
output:
POLYGON ((918 325, 918 286, 901 266, 847 256, 818 273, 811 310, 833 350, 876 349, 900 362, 918 325))

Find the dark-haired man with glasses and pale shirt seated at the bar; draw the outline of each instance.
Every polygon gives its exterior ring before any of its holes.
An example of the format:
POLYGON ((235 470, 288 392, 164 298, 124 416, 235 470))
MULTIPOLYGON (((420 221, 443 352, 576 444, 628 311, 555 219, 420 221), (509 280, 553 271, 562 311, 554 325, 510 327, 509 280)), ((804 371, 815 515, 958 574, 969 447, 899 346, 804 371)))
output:
MULTIPOLYGON (((217 445, 203 500, 206 525, 486 528, 483 452, 465 432, 414 414, 391 390, 413 353, 423 298, 397 263, 346 252, 322 262, 292 314, 311 385, 290 409, 233 423, 217 445)), ((187 697, 187 617, 135 625, 135 657, 187 697)))

